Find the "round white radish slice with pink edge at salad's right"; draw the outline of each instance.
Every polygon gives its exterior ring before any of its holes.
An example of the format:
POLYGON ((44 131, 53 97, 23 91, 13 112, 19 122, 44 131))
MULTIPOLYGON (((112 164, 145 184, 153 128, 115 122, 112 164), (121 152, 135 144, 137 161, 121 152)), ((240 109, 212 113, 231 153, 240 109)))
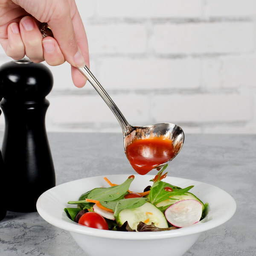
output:
POLYGON ((169 206, 165 211, 167 221, 175 227, 187 227, 200 221, 202 204, 197 200, 186 199, 169 206))

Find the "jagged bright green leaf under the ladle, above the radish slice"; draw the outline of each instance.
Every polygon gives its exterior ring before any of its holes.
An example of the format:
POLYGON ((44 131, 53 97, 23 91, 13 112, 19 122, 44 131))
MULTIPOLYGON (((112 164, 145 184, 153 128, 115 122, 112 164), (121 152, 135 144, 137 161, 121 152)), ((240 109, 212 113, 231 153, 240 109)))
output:
POLYGON ((174 199, 174 198, 170 198, 170 196, 186 195, 186 192, 192 189, 192 187, 193 186, 188 186, 185 189, 180 189, 179 187, 173 186, 172 184, 169 184, 163 181, 157 181, 156 183, 153 184, 153 186, 150 189, 149 201, 151 202, 151 204, 156 205, 167 199, 174 199), (164 190, 166 186, 171 187, 173 191, 170 192, 170 191, 164 190))

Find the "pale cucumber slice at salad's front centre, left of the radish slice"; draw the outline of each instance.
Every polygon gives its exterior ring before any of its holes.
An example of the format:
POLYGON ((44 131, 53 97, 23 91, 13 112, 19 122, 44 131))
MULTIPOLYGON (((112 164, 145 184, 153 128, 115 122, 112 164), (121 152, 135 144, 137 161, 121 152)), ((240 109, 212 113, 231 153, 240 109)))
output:
POLYGON ((129 226, 134 230, 137 230, 137 225, 140 221, 148 225, 151 225, 153 222, 156 227, 168 227, 168 222, 163 212, 149 202, 146 202, 140 207, 124 209, 119 212, 119 215, 116 217, 117 224, 122 226, 125 221, 128 221, 129 226))

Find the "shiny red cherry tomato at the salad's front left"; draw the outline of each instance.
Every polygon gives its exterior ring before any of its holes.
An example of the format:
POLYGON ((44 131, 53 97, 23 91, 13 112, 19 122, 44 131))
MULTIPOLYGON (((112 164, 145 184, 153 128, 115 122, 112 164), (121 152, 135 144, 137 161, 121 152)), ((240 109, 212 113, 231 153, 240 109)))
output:
POLYGON ((108 223, 102 215, 96 212, 86 212, 79 218, 79 224, 98 229, 108 230, 108 223))

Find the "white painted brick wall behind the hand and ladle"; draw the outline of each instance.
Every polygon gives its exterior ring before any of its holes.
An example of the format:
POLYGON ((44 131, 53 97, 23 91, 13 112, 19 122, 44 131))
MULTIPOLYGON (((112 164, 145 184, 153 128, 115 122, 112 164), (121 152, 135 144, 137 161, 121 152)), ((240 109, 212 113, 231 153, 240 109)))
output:
MULTIPOLYGON (((256 0, 76 3, 90 69, 131 125, 256 134, 256 0)), ((0 64, 9 60, 0 49, 0 64)), ((69 64, 50 69, 48 131, 121 132, 89 83, 73 86, 69 64)))

